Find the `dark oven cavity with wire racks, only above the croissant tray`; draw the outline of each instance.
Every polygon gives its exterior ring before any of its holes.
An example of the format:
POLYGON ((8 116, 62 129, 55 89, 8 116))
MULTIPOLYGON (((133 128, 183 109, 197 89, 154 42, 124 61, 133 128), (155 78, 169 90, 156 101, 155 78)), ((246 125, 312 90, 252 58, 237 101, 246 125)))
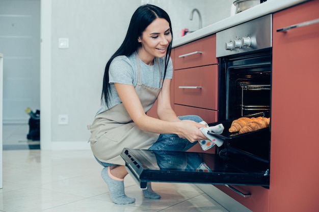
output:
POLYGON ((271 111, 271 49, 222 57, 219 120, 271 111), (224 111, 223 111, 224 110, 224 111))

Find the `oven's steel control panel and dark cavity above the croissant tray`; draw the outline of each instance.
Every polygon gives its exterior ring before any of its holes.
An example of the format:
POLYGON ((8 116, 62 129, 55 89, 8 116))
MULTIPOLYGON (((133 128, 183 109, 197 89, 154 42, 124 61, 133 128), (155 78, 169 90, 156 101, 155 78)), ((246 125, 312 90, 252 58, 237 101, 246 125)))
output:
POLYGON ((217 33, 219 120, 270 111, 272 16, 217 33))

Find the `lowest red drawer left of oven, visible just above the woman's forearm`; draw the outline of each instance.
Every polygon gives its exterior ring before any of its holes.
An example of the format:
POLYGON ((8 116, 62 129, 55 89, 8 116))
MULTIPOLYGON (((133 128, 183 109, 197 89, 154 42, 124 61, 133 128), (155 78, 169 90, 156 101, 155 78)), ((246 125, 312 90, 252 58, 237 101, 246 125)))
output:
POLYGON ((206 123, 214 123, 218 120, 218 111, 216 110, 207 110, 196 107, 189 107, 183 105, 175 105, 174 111, 177 116, 180 115, 198 115, 200 116, 206 123))

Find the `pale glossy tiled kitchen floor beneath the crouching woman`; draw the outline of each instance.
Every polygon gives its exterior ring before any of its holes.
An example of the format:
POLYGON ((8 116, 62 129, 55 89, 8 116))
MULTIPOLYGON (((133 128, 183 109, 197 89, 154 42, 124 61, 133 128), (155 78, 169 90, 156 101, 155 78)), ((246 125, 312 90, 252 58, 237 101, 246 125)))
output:
POLYGON ((90 150, 4 150, 0 211, 227 211, 191 184, 153 183, 153 190, 162 198, 146 199, 130 176, 124 180, 125 191, 136 202, 114 204, 100 176, 101 169, 90 150))

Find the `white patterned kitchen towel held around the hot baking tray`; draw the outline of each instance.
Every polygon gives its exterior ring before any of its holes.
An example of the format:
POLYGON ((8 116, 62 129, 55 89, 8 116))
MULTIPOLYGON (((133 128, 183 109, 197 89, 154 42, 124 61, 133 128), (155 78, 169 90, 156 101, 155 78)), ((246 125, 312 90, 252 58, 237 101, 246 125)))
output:
POLYGON ((223 131, 224 131, 223 124, 219 124, 219 125, 211 126, 211 127, 209 127, 208 124, 205 121, 201 122, 200 124, 207 126, 205 128, 200 128, 200 131, 202 131, 202 133, 209 139, 209 140, 200 140, 199 141, 199 144, 201 145, 201 147, 202 147, 202 149, 204 151, 209 149, 209 148, 211 148, 215 144, 217 146, 223 145, 224 141, 222 139, 217 138, 216 136, 208 134, 208 132, 212 132, 212 133, 215 133, 215 134, 222 134, 223 131))

